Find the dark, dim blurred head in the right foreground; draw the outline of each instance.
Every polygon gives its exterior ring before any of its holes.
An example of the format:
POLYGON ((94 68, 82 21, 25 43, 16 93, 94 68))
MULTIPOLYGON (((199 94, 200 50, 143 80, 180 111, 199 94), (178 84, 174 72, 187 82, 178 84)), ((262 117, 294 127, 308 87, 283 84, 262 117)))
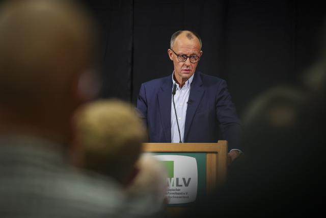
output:
MULTIPOLYGON (((283 153, 293 149, 293 143, 285 143, 282 147, 277 144, 295 137, 294 132, 302 118, 304 100, 303 91, 287 86, 274 87, 260 94, 250 104, 243 120, 248 152, 257 157, 262 153, 273 157, 271 152, 283 153)), ((262 155, 261 158, 263 160, 266 156, 262 155)))

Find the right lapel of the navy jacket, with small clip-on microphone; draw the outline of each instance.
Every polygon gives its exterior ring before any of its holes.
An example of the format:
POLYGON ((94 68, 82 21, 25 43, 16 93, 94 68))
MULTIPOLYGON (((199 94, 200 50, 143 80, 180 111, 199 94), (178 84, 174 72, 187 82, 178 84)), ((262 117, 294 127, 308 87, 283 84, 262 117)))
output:
POLYGON ((201 85, 202 85, 202 80, 200 77, 200 72, 196 72, 194 75, 194 80, 191 84, 191 89, 189 94, 189 100, 191 100, 191 104, 188 104, 187 106, 187 112, 185 117, 184 142, 187 142, 187 135, 188 135, 189 128, 191 127, 195 112, 198 108, 198 105, 204 93, 204 88, 202 88, 201 85))

